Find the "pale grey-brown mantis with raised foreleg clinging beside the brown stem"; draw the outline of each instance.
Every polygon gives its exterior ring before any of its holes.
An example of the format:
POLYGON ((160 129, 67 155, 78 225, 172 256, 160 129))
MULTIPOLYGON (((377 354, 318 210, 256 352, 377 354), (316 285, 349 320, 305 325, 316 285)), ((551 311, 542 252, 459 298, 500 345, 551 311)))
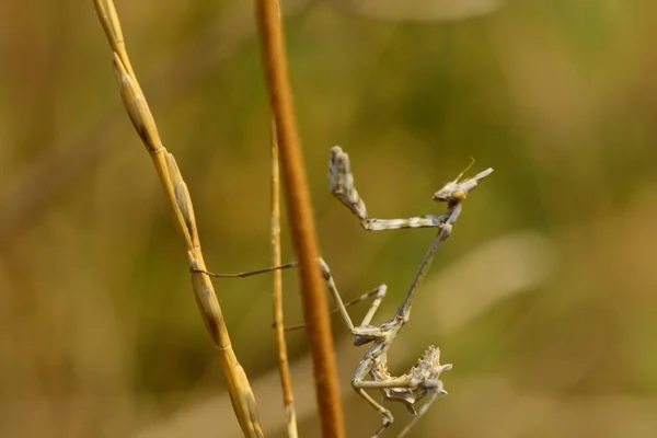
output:
MULTIPOLYGON (((462 172, 456 180, 448 182, 442 188, 436 192, 434 194, 434 200, 447 203, 447 211, 443 215, 426 215, 406 219, 376 219, 369 218, 365 201, 360 198, 354 186, 354 175, 350 170, 349 157, 338 146, 331 149, 328 162, 328 185, 331 193, 358 218, 360 226, 365 230, 382 231, 404 228, 438 229, 438 233, 422 260, 404 300, 393 316, 379 325, 372 325, 371 321, 385 297, 388 290, 387 286, 382 284, 372 292, 366 293, 353 301, 357 302, 372 295, 374 296, 372 304, 365 318, 360 324, 355 325, 346 309, 349 303, 343 301, 328 265, 323 258, 318 260, 322 276, 326 283, 328 292, 336 303, 337 311, 341 313, 347 330, 354 336, 354 345, 361 346, 371 344, 356 367, 351 377, 351 387, 370 406, 381 414, 382 425, 372 435, 372 438, 379 437, 393 423, 394 418, 391 412, 369 395, 366 390, 373 389, 381 391, 384 400, 403 403, 406 411, 415 416, 414 420, 402 430, 399 437, 404 436, 411 427, 413 427, 417 419, 424 415, 438 396, 447 395, 447 391, 445 391, 439 377, 442 371, 451 369, 451 364, 440 364, 440 349, 438 347, 433 345, 427 347, 417 364, 411 368, 407 373, 399 377, 391 376, 388 370, 388 349, 402 327, 410 321, 411 308, 417 296, 419 286, 429 269, 436 252, 451 235, 453 224, 461 214, 463 200, 468 197, 468 194, 492 172, 493 169, 486 169, 474 177, 460 181, 464 173, 462 172), (414 406, 415 403, 427 395, 430 395, 429 401, 420 407, 419 412, 416 411, 414 406)), ((247 273, 206 274, 215 277, 246 277, 274 269, 290 268, 297 265, 297 262, 292 262, 247 273)))

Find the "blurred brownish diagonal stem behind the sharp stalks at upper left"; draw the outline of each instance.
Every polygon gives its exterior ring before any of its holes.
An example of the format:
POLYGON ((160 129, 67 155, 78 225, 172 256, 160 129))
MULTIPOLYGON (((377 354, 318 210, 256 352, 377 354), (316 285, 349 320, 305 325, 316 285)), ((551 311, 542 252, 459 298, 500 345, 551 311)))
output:
MULTIPOLYGON (((288 0, 281 12, 293 15, 308 3, 309 0, 288 0)), ((198 28, 175 56, 159 62, 146 74, 151 102, 153 96, 160 102, 180 99, 210 67, 215 68, 251 41, 254 33, 253 5, 231 5, 206 27, 198 28), (171 82, 165 77, 178 79, 171 82)), ((23 235, 22 230, 34 226, 60 196, 77 187, 80 177, 89 175, 97 169, 97 163, 112 154, 111 142, 96 142, 93 148, 87 146, 107 136, 119 117, 123 122, 124 114, 125 110, 118 105, 99 108, 79 122, 62 141, 44 147, 34 162, 0 187, 0 205, 3 207, 0 210, 0 244, 3 247, 13 244, 23 235), (51 169, 66 169, 66 172, 53 173, 51 169)))

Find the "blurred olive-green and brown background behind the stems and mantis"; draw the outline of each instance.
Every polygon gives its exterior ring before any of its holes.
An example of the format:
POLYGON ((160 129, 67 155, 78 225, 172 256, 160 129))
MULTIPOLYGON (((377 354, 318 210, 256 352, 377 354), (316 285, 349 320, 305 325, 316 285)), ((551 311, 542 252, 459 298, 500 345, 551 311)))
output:
MULTIPOLYGON (((331 146, 381 218, 442 211, 431 194, 470 157, 471 172, 495 169, 390 353, 394 373, 428 344, 454 364, 450 395, 411 435, 657 436, 657 3, 381 1, 283 2, 343 295, 385 281, 391 314, 434 232, 362 231, 327 191, 331 146)), ((208 266, 266 266, 269 116, 250 5, 117 8, 208 266)), ((92 2, 5 2, 0 50, 0 436, 239 436, 92 2)), ((216 286, 267 436, 284 437, 270 278, 216 286)), ((293 274, 286 320, 302 320, 293 274)), ((348 384, 364 348, 334 326, 349 436, 369 436, 379 415, 348 384)), ((307 339, 288 339, 301 436, 319 436, 307 339)), ((390 406, 392 437, 411 418, 390 406)))

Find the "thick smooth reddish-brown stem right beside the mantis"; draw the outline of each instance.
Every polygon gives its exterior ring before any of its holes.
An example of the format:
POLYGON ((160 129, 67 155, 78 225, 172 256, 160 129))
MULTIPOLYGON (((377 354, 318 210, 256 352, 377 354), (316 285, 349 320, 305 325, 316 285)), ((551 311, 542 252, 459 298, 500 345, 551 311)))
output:
POLYGON ((263 46, 267 90, 274 119, 290 217, 292 243, 300 263, 304 320, 311 339, 315 396, 325 438, 344 437, 344 414, 333 350, 328 307, 316 263, 318 243, 310 194, 292 108, 283 24, 275 0, 257 0, 256 15, 263 46))

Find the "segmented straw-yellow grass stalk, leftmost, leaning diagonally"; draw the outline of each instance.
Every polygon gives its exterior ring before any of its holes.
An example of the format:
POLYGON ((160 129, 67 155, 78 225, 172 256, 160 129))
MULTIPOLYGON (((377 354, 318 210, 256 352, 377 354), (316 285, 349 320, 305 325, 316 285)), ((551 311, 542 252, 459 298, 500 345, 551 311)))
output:
POLYGON ((183 239, 192 270, 192 285, 196 303, 219 350, 228 391, 238 422, 245 437, 264 437, 249 379, 232 348, 215 288, 209 277, 204 274, 206 265, 187 185, 183 181, 175 159, 162 146, 158 127, 130 65, 113 1, 94 0, 94 5, 113 51, 113 66, 124 105, 135 129, 153 160, 174 222, 183 239))

